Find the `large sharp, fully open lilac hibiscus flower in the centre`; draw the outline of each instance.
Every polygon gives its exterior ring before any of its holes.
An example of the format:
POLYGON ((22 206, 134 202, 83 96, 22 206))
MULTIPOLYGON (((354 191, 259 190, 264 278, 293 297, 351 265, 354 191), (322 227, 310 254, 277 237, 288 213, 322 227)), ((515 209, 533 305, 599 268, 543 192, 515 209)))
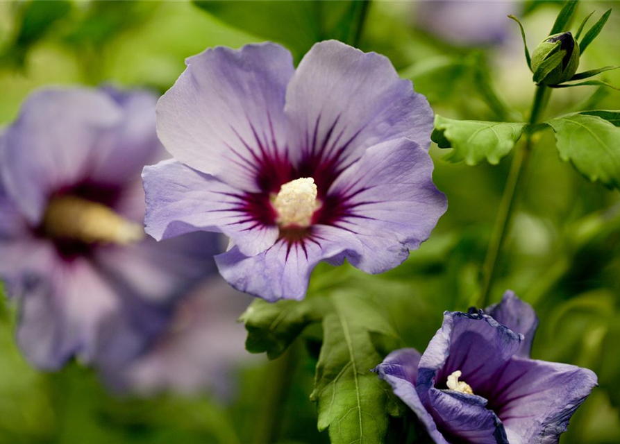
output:
POLYGON ((321 261, 394 268, 446 210, 433 112, 376 53, 321 42, 295 69, 276 44, 208 49, 157 115, 176 160, 144 169, 146 232, 223 232, 219 272, 266 300, 303 298, 321 261))

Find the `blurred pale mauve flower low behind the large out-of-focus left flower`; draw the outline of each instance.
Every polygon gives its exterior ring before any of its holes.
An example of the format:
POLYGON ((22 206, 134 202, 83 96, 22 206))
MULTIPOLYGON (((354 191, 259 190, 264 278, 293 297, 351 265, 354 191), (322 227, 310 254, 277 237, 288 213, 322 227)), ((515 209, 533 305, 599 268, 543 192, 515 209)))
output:
POLYGON ((213 275, 177 302, 167 329, 140 357, 121 363, 107 359, 104 378, 116 391, 142 396, 210 391, 230 399, 235 391, 232 369, 256 359, 246 352, 246 330, 236 322, 250 299, 213 275))

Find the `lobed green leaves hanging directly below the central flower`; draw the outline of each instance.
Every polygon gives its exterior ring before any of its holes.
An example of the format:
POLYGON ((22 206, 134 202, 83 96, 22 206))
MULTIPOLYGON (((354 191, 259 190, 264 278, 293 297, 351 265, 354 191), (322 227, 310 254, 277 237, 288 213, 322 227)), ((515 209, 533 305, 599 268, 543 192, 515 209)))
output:
POLYGON ((251 352, 279 357, 303 330, 322 327, 323 337, 310 399, 317 402, 319 430, 333 444, 383 443, 389 417, 403 407, 371 368, 401 345, 376 303, 358 291, 330 291, 301 302, 255 300, 242 315, 251 352))

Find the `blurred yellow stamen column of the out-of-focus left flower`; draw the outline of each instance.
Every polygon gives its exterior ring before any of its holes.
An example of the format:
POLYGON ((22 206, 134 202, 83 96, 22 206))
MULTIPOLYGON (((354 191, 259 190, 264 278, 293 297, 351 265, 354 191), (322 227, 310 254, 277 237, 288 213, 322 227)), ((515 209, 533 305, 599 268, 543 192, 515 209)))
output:
POLYGON ((76 196, 49 200, 43 216, 44 234, 56 239, 74 239, 86 244, 132 244, 144 238, 144 228, 102 203, 76 196))

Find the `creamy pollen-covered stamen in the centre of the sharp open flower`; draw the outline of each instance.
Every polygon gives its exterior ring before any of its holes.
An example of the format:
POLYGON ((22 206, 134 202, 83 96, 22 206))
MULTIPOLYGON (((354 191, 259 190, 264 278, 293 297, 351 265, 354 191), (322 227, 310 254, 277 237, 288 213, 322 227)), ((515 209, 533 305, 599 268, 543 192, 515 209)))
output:
POLYGON ((277 222, 282 226, 310 226, 312 214, 320 206, 317 185, 313 178, 291 180, 280 187, 272 205, 278 212, 277 222))

